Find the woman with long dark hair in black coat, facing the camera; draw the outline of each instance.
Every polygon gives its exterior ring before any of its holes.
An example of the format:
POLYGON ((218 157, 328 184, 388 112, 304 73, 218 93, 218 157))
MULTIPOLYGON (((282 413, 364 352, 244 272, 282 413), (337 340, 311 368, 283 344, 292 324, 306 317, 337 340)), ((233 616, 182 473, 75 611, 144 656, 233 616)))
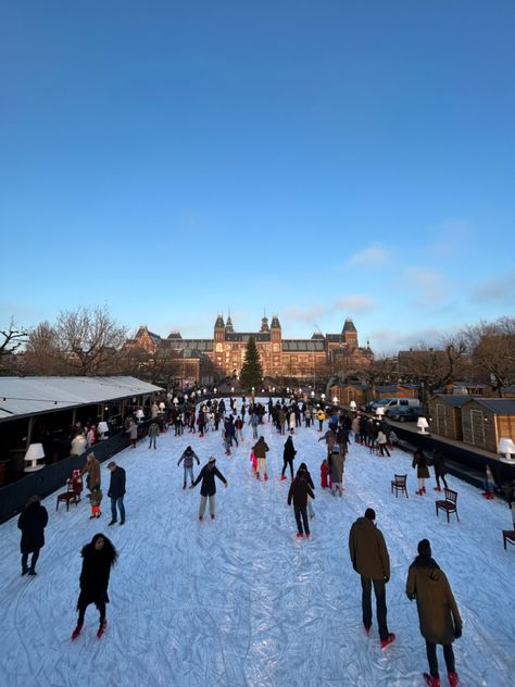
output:
POLYGON ((80 635, 86 609, 90 603, 95 603, 100 613, 100 625, 97 632, 97 637, 100 639, 108 624, 105 604, 109 603, 109 576, 118 554, 108 537, 97 534, 83 548, 80 555, 83 557, 83 570, 80 571, 80 594, 77 601, 78 619, 72 639, 77 639, 80 635))

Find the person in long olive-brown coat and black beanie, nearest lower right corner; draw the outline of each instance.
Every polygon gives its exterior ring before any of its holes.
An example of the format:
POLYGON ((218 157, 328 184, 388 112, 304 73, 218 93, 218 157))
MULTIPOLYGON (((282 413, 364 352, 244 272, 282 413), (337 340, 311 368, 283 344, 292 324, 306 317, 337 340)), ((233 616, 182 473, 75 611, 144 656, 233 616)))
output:
POLYGON ((459 677, 452 642, 462 636, 463 623, 445 573, 431 558, 428 539, 418 542, 418 555, 407 573, 406 595, 410 601, 416 599, 420 634, 426 640, 429 663, 429 674, 424 673, 426 683, 440 687, 437 645, 442 645, 449 685, 455 687, 459 677))

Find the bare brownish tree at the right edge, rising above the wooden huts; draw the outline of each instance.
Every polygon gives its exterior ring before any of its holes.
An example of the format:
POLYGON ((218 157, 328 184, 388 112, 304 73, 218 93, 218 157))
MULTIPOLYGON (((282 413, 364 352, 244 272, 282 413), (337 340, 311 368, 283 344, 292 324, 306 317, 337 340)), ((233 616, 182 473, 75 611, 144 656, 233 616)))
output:
POLYGON ((500 397, 504 387, 515 382, 515 317, 500 317, 493 323, 481 321, 467 327, 473 369, 487 376, 500 397))

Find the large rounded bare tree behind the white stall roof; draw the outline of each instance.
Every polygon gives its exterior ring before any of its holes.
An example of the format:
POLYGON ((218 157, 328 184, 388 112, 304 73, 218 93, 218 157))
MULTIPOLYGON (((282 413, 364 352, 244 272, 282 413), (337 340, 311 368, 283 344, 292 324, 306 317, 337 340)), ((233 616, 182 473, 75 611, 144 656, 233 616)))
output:
POLYGON ((127 329, 120 327, 104 308, 61 312, 55 324, 59 350, 81 375, 95 375, 123 346, 127 329))

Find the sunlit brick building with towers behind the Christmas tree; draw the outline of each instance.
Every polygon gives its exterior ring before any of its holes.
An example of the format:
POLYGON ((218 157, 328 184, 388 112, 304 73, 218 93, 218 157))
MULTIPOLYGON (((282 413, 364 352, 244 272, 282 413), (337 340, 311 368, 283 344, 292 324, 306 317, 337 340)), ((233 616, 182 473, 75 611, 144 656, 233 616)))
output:
POLYGON ((227 322, 218 315, 213 337, 185 339, 179 332, 172 332, 166 339, 139 327, 135 338, 127 346, 139 346, 153 352, 159 346, 175 351, 196 350, 213 363, 215 376, 238 378, 243 364, 249 338, 253 337, 260 352, 265 377, 294 377, 316 379, 339 364, 342 359, 352 360, 359 366, 368 365, 374 354, 368 346, 359 346, 357 330, 352 320, 346 320, 340 334, 315 333, 310 339, 287 339, 277 315, 264 316, 259 332, 235 332, 230 315, 227 322))

